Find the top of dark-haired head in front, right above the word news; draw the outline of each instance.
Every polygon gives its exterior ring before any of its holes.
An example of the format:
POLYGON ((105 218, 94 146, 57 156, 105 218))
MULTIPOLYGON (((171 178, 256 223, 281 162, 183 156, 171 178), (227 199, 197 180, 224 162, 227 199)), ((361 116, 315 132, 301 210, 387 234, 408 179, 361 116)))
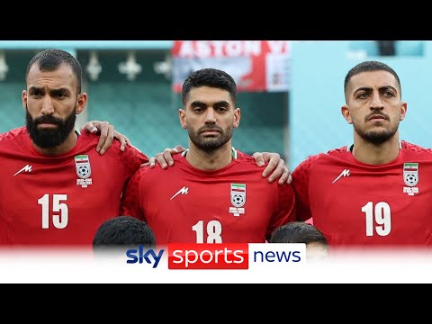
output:
POLYGON ((329 246, 324 234, 310 223, 292 221, 284 224, 272 233, 270 243, 321 243, 329 246))

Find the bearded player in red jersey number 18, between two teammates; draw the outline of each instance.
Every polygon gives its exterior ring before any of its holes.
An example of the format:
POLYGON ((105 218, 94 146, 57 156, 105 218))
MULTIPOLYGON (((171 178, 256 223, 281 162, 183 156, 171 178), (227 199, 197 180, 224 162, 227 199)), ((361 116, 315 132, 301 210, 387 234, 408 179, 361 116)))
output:
POLYGON ((291 185, 268 184, 253 157, 232 147, 240 122, 237 85, 224 71, 193 72, 182 89, 189 145, 174 166, 141 168, 122 196, 121 215, 145 220, 157 245, 262 243, 294 220, 291 185))

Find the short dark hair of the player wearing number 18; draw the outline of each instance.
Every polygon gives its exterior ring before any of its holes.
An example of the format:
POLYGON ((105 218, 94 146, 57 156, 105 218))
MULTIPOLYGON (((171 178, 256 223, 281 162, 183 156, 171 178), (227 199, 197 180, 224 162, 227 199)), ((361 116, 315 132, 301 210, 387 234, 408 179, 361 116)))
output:
POLYGON ((182 101, 186 103, 189 92, 194 87, 210 86, 229 92, 233 103, 237 102, 236 81, 225 71, 216 68, 202 68, 186 78, 182 86, 182 101))

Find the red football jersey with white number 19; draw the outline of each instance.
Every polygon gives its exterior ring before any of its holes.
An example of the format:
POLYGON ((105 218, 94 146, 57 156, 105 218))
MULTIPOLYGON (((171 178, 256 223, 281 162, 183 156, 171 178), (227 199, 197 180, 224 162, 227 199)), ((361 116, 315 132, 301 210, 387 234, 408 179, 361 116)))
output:
POLYGON ((373 166, 350 147, 311 156, 293 171, 298 217, 338 246, 432 244, 432 153, 401 141, 399 156, 373 166))

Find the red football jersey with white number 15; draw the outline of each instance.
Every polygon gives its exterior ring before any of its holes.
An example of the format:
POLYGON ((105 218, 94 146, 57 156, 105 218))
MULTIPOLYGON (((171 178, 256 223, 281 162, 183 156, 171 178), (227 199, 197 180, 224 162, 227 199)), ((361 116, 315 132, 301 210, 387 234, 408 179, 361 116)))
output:
POLYGON ((0 138, 0 244, 88 245, 104 220, 120 213, 121 192, 148 158, 120 142, 101 156, 83 132, 66 154, 49 157, 22 127, 0 138))

